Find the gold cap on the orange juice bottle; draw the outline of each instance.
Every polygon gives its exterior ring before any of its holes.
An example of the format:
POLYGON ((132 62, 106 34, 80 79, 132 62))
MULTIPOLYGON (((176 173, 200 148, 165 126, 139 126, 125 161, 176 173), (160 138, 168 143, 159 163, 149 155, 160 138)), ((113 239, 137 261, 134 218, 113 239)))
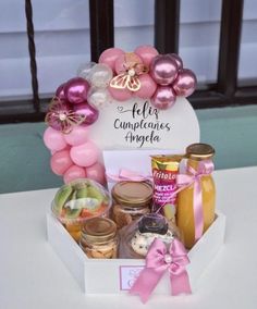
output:
POLYGON ((193 160, 206 160, 215 156, 215 148, 208 144, 196 143, 186 147, 186 157, 193 160))

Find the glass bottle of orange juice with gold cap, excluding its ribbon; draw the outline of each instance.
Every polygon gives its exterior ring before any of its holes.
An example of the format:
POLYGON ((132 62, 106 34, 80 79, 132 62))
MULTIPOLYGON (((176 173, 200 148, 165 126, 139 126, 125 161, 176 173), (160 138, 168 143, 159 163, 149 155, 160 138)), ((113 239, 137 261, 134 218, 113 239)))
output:
MULTIPOLYGON (((191 168, 196 173, 199 164, 211 164, 215 149, 207 144, 193 144, 186 148, 187 174, 192 175, 191 168), (207 161, 208 160, 208 161, 207 161)), ((201 188, 201 207, 204 219, 204 231, 211 225, 215 220, 216 188, 211 173, 205 173, 200 177, 201 188)), ((176 224, 184 237, 184 244, 191 249, 197 239, 195 239, 195 221, 194 221, 194 184, 183 189, 178 196, 176 224)))

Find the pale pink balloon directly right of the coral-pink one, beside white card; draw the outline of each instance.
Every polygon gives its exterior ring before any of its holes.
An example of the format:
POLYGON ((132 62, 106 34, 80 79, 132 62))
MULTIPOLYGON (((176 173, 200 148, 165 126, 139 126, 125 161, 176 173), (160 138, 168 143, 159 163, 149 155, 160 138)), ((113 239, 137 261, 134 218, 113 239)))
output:
POLYGON ((97 162, 99 149, 93 141, 73 146, 71 148, 71 158, 78 166, 90 166, 97 162))

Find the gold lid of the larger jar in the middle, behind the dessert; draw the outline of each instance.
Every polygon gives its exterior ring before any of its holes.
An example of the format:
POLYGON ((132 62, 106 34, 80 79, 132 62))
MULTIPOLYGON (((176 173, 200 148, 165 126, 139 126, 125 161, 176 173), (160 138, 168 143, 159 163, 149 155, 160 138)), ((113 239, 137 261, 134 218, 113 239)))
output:
POLYGON ((120 182, 113 186, 111 194, 118 203, 147 206, 152 198, 152 186, 147 182, 120 182))

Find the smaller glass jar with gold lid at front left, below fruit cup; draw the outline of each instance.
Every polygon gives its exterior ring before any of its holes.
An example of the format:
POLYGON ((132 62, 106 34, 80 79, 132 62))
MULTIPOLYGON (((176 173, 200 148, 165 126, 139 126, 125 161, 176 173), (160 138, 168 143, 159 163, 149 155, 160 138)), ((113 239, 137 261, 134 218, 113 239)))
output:
POLYGON ((107 218, 93 218, 82 228, 79 246, 88 258, 115 259, 119 238, 115 223, 107 218))

